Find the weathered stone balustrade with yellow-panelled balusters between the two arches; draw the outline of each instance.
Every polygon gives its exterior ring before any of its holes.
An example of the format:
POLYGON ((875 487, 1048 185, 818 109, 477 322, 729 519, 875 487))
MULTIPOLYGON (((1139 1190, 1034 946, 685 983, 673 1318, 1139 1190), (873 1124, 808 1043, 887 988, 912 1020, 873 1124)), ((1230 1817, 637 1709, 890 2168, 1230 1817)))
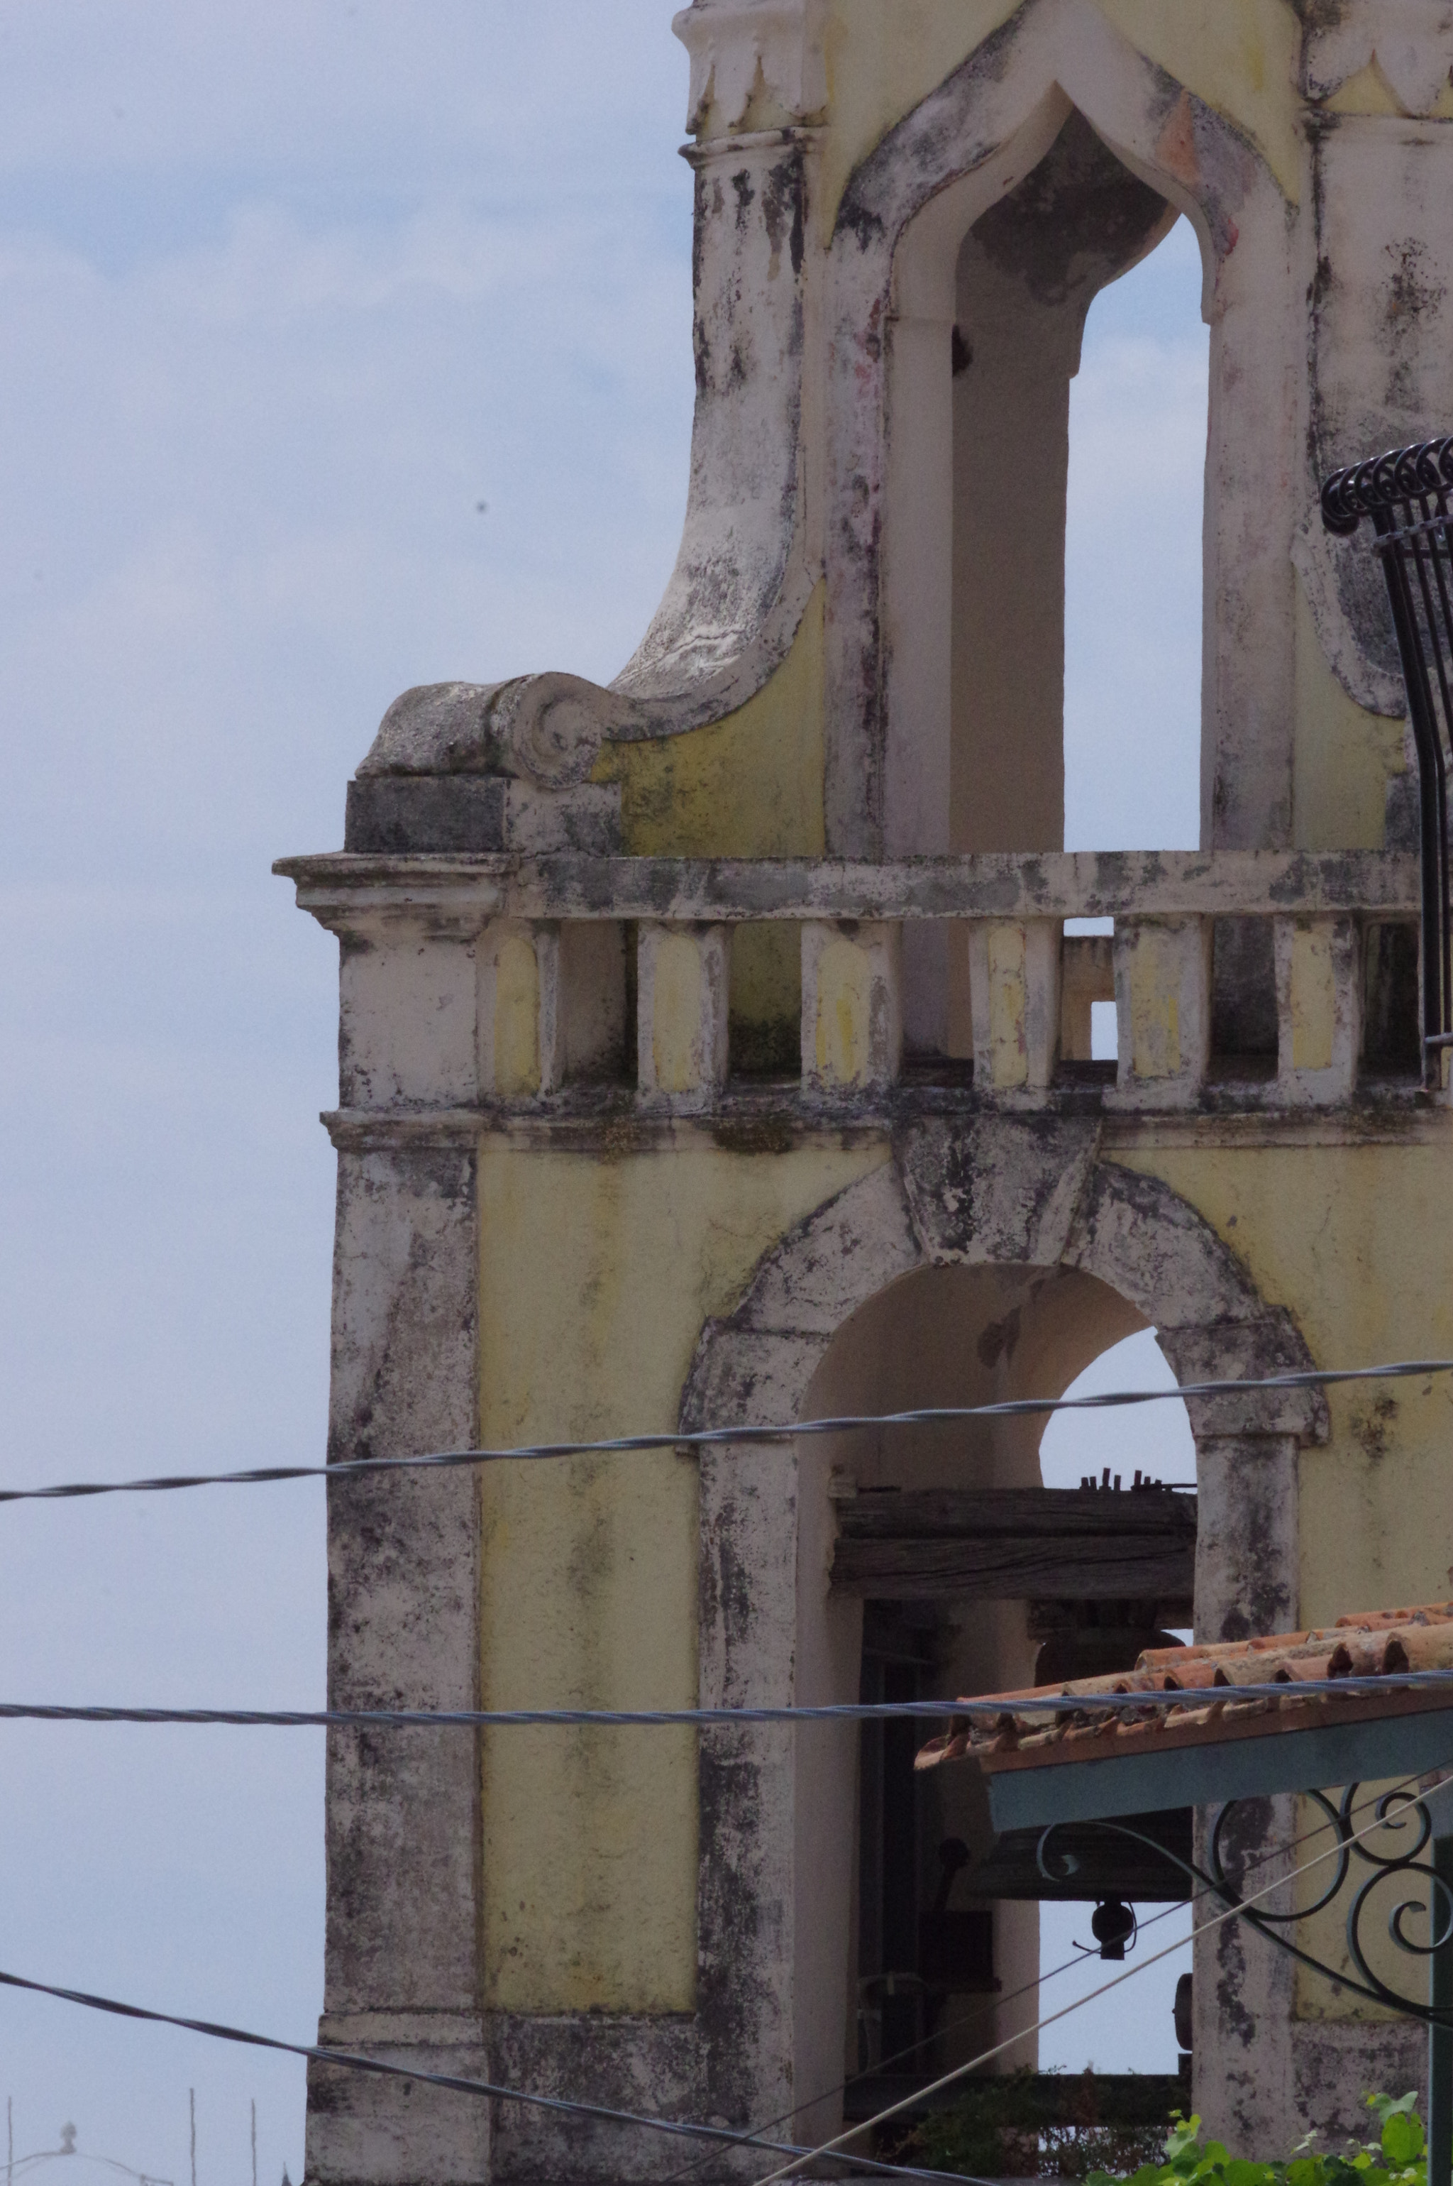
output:
MULTIPOLYGON (((341 853, 275 870, 343 942, 341 1102, 354 1113, 540 1108, 601 1080, 634 1082, 645 1110, 710 1110, 732 1086, 732 940, 767 920, 800 927, 800 1097, 813 1104, 872 1104, 905 1073, 933 1082, 935 1058, 905 1058, 905 929, 915 920, 964 929, 974 1097, 1042 1106, 1075 1086, 1125 1110, 1337 1106, 1394 1078, 1363 1034, 1409 1010, 1416 1076, 1418 872, 1407 857, 1025 853, 846 866, 341 853), (1086 918, 1112 918, 1112 936, 1066 936, 1066 920, 1086 918), (1217 1051, 1221 922, 1261 933, 1261 949, 1237 955, 1243 990, 1245 964, 1263 966, 1274 1027, 1252 1056, 1235 1043, 1217 1051), (1095 1001, 1114 1003, 1114 1065, 1090 1060, 1095 1001)), ((946 1082, 964 1084, 966 1060, 944 1058, 946 1082)))

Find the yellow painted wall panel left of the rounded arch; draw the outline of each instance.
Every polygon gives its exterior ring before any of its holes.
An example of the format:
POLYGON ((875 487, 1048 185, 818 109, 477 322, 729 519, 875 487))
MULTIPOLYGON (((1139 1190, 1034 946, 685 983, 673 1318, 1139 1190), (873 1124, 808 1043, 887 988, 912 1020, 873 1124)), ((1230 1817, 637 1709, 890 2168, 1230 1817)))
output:
MULTIPOLYGON (((671 1430, 712 1314, 808 1209, 885 1159, 481 1143, 481 1434, 671 1430)), ((481 1705, 693 1707, 697 1469, 673 1452, 481 1471, 481 1705)), ((483 1991, 509 2011, 695 2002, 690 1731, 483 1744, 483 1991)))

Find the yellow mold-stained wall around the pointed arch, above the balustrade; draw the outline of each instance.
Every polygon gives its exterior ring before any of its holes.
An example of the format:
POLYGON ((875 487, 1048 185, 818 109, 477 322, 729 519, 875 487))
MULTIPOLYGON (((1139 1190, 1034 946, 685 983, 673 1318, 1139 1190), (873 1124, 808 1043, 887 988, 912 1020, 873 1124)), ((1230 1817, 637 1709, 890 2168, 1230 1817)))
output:
MULTIPOLYGON (((1287 0, 1099 0, 1138 50, 1224 111, 1267 157, 1289 203, 1304 195, 1307 146, 1296 96, 1298 28, 1287 0)), ((999 28, 1005 0, 830 0, 830 107, 817 188, 826 245, 854 166, 905 114, 999 28)), ((1449 92, 1453 103, 1453 90, 1449 92)), ((1385 114, 1396 103, 1377 68, 1333 101, 1337 114, 1385 114)), ((1451 107, 1453 109, 1453 107, 1451 107)), ((789 116, 760 107, 745 127, 789 116)), ((706 133, 714 120, 708 114, 706 133)), ((802 619, 787 660, 763 691, 708 728, 649 743, 610 745, 596 780, 621 783, 631 855, 817 857, 824 848, 824 590, 802 619)), ((1298 848, 1381 848, 1387 780, 1405 767, 1401 724, 1357 706, 1331 673, 1311 610, 1296 586, 1293 828, 1298 848)), ((739 936, 732 1014, 765 1058, 782 1049, 800 1003, 795 936, 784 927, 739 936)), ((743 1047, 743 1054, 747 1049, 743 1047)))

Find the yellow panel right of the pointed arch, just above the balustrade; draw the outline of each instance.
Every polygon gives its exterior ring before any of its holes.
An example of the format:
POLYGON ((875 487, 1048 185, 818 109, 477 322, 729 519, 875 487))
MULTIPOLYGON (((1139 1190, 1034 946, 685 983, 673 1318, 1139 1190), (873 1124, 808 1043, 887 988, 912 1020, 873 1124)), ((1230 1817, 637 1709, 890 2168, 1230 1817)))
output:
POLYGON ((1291 839, 1298 850, 1381 850, 1387 776, 1403 774, 1403 724, 1346 695, 1296 579, 1291 839))

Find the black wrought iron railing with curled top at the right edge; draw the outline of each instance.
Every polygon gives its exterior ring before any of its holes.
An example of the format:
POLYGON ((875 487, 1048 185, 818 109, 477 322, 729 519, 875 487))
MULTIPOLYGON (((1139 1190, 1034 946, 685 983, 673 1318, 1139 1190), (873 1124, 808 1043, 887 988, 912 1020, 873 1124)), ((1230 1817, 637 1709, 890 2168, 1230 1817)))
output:
POLYGON ((1418 752, 1422 848, 1422 1073, 1453 1047, 1449 765, 1453 763, 1453 435, 1335 470, 1322 522, 1350 536, 1372 518, 1418 752))

